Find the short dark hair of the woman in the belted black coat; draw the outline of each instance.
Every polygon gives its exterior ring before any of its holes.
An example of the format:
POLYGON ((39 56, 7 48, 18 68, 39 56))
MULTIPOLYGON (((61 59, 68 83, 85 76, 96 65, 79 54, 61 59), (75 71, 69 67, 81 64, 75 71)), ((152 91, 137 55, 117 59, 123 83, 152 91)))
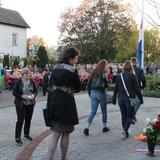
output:
POLYGON ((74 59, 76 56, 80 56, 80 51, 77 48, 67 48, 60 57, 60 63, 68 64, 69 59, 74 59))

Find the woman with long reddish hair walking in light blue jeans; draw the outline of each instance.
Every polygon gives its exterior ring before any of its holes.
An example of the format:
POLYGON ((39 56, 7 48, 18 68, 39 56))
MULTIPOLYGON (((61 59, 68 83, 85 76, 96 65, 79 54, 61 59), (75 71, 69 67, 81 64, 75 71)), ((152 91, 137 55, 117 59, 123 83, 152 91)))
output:
POLYGON ((96 115, 98 105, 101 105, 103 132, 108 132, 107 127, 107 96, 105 89, 108 87, 107 73, 109 73, 109 64, 105 59, 98 62, 96 68, 91 72, 88 82, 88 93, 91 98, 91 113, 88 117, 88 123, 83 133, 89 135, 89 127, 96 115))

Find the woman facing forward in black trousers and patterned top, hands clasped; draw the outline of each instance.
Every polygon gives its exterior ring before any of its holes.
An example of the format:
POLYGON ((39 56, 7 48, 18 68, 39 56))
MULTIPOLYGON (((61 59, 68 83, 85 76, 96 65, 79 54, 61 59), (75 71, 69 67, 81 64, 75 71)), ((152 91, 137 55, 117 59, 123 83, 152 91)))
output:
POLYGON ((15 139, 17 145, 22 145, 21 131, 24 124, 24 137, 30 141, 30 125, 32 114, 35 105, 35 97, 37 96, 37 89, 34 81, 31 79, 30 70, 23 68, 21 70, 22 78, 16 81, 13 88, 13 95, 15 96, 15 106, 17 113, 17 122, 15 129, 15 139))

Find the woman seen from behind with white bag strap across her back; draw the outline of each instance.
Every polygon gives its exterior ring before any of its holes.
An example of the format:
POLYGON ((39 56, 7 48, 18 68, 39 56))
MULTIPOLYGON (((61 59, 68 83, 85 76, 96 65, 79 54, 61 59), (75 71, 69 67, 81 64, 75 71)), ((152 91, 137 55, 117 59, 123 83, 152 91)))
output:
POLYGON ((132 106, 130 98, 138 97, 141 104, 143 104, 142 94, 134 73, 132 62, 126 60, 123 65, 123 72, 116 78, 115 89, 113 93, 112 103, 116 104, 118 94, 118 104, 122 116, 122 139, 129 137, 129 127, 132 122, 132 106))

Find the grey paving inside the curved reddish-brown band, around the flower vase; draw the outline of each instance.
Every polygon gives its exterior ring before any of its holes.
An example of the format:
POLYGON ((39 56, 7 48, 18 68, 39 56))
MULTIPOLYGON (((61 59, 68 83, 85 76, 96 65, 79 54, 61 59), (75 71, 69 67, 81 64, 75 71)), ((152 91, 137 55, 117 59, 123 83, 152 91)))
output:
MULTIPOLYGON (((142 133, 142 129, 146 126, 145 117, 149 117, 149 115, 154 117, 158 110, 158 108, 153 108, 152 113, 150 113, 149 108, 141 109, 138 119, 142 121, 137 122, 135 126, 131 126, 131 136, 126 141, 121 139, 122 129, 119 111, 109 111, 108 118, 111 130, 108 133, 102 133, 101 115, 99 114, 93 122, 90 136, 84 136, 83 129, 86 124, 86 118, 81 119, 80 125, 76 127, 75 132, 71 135, 68 160, 160 160, 160 153, 157 153, 155 158, 150 158, 145 153, 136 152, 136 149, 146 149, 147 144, 133 139, 133 136, 142 133)), ((31 160, 47 159, 49 137, 46 137, 36 148, 31 160)), ((59 145, 56 150, 55 160, 60 160, 59 145)), ((156 149, 160 149, 160 146, 157 146, 156 149)))

